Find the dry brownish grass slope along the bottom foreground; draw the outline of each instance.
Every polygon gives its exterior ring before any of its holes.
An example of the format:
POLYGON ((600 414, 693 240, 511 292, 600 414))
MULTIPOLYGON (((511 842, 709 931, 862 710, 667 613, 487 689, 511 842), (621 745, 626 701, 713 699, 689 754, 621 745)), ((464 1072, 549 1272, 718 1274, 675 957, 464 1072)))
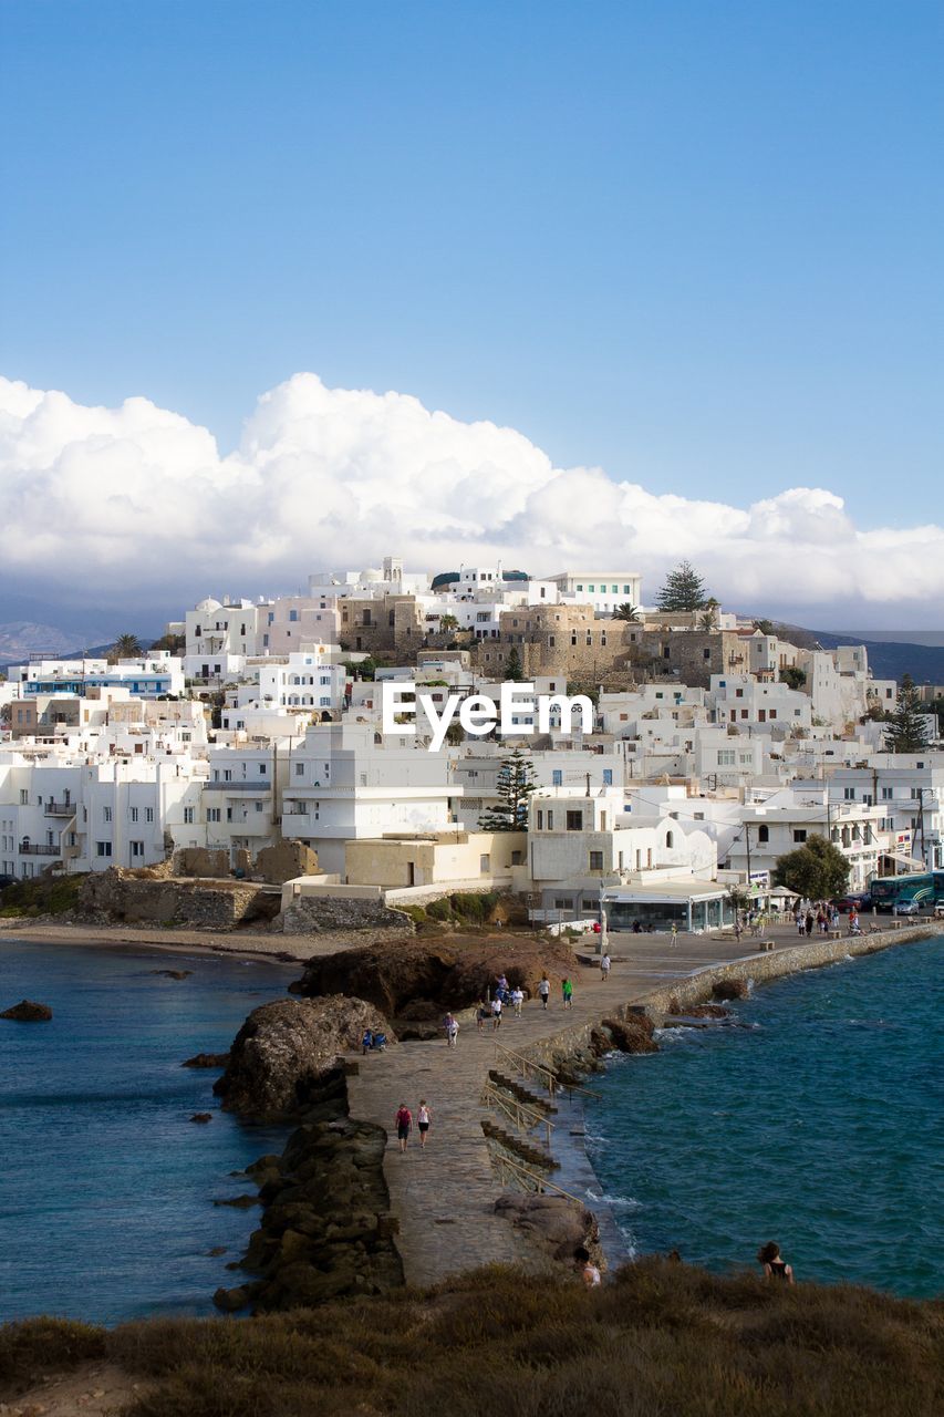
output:
POLYGON ((128 1417, 931 1417, 944 1306, 645 1260, 611 1284, 489 1267, 248 1321, 0 1329, 0 1397, 108 1359, 128 1417))

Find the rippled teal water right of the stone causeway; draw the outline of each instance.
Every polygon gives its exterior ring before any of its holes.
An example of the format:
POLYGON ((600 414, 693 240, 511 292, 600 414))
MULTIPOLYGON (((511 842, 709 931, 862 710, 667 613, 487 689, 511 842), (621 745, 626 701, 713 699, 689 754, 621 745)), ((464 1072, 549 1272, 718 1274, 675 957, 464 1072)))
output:
POLYGON ((747 1027, 673 1029, 587 1102, 631 1250, 726 1271, 944 1289, 944 935, 764 985, 747 1027))

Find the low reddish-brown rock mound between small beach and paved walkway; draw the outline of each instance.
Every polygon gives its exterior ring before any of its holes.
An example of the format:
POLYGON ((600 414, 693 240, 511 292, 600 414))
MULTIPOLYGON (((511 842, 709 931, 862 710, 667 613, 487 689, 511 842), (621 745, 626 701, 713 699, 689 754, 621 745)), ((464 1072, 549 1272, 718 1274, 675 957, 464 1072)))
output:
POLYGON ((495 989, 500 975, 534 998, 544 971, 557 985, 574 969, 575 956, 563 941, 500 935, 469 942, 405 939, 312 959, 289 990, 306 998, 353 993, 387 1017, 437 1017, 442 1009, 476 1003, 486 989, 495 989))

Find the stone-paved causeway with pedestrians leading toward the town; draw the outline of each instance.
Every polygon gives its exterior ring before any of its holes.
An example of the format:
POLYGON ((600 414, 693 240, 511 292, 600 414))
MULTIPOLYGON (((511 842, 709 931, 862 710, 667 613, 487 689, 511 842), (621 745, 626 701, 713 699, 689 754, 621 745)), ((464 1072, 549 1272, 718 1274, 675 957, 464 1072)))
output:
MULTIPOLYGON (((784 945, 799 942, 792 927, 777 937, 784 945)), ((592 952, 592 937, 585 948, 592 952)), ((581 966, 573 1009, 564 1010, 560 995, 553 995, 547 1012, 536 1000, 524 1005, 522 1019, 506 1013, 498 1033, 489 1026, 479 1036, 475 1023, 465 1023, 455 1049, 445 1041, 400 1043, 361 1058, 359 1074, 349 1080, 350 1110, 384 1127, 391 1138, 384 1175, 400 1220, 397 1244, 407 1282, 435 1284, 455 1270, 522 1257, 513 1229, 493 1213, 500 1187, 482 1132, 485 1115, 502 1125, 479 1101, 489 1068, 509 1071, 496 1058, 496 1043, 527 1049, 563 1029, 598 1020, 611 1007, 636 1003, 675 979, 755 952, 755 942, 747 939, 679 935, 673 947, 669 935, 614 935, 609 981, 602 983, 595 966, 581 966), (427 1149, 421 1152, 414 1129, 400 1155, 394 1114, 403 1101, 415 1118, 420 1098, 432 1110, 427 1149)), ((561 1125, 568 1125, 563 1115, 561 1125)))

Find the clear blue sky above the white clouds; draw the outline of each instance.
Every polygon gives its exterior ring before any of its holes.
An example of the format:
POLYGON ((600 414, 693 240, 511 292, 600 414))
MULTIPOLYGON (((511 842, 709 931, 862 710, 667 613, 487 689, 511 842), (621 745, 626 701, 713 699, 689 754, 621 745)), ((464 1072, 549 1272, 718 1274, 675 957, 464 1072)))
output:
POLYGON ((4 0, 0 28, 9 377, 228 452, 312 370, 655 493, 940 520, 940 0, 4 0))

